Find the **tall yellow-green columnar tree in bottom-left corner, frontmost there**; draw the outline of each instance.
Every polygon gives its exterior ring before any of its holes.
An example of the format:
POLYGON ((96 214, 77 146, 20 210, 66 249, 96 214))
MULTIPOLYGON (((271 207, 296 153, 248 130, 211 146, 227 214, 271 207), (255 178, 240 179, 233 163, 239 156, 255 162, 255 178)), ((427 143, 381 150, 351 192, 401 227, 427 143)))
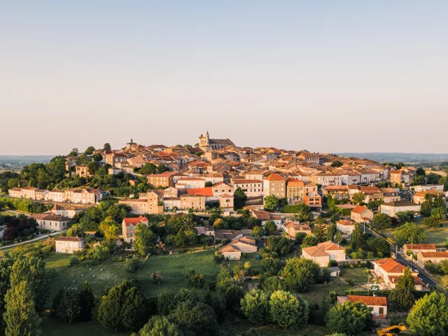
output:
POLYGON ((3 320, 6 323, 6 336, 41 335, 41 318, 34 309, 34 293, 27 278, 15 283, 5 296, 3 320))

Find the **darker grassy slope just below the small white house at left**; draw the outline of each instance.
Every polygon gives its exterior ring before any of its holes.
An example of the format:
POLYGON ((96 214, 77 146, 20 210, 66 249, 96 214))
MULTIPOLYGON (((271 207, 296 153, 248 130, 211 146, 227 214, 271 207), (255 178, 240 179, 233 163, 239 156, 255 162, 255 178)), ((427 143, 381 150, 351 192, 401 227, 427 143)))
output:
POLYGON ((133 275, 126 272, 125 262, 112 262, 112 256, 102 260, 98 265, 80 262, 72 267, 69 267, 70 258, 69 254, 55 252, 44 258, 47 269, 54 272, 51 277, 50 300, 61 288, 80 289, 85 279, 89 281, 94 293, 99 294, 103 288, 116 286, 133 275))

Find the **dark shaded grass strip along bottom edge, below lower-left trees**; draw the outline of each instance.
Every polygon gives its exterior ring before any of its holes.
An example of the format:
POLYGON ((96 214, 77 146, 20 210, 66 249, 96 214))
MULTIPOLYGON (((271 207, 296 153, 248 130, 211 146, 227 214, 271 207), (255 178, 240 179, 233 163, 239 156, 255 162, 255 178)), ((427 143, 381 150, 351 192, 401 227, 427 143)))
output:
POLYGON ((50 313, 45 311, 41 314, 42 335, 45 336, 111 336, 111 335, 130 335, 130 331, 116 332, 103 328, 102 325, 94 321, 80 323, 64 323, 56 318, 51 318, 50 313))

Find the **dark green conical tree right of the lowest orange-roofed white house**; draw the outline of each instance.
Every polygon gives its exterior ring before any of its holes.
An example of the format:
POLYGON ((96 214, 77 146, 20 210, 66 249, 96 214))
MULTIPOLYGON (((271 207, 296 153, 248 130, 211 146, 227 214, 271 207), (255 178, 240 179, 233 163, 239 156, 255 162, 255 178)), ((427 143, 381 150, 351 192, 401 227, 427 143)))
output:
POLYGON ((414 276, 409 268, 397 280, 395 290, 388 296, 391 308, 395 311, 409 311, 415 302, 414 276))

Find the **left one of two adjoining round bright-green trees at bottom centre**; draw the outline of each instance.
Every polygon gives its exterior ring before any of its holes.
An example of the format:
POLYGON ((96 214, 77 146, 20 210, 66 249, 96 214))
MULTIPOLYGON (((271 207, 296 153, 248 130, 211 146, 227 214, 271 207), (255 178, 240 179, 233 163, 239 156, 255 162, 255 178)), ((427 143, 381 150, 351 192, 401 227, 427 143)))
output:
POLYGON ((252 323, 269 324, 269 295, 260 289, 247 292, 241 299, 241 311, 252 323))

